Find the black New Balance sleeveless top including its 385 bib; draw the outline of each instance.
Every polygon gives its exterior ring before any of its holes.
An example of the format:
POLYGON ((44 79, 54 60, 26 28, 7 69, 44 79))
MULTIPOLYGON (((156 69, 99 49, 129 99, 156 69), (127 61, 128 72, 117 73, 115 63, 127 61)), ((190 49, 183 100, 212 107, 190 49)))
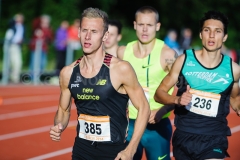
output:
POLYGON ((112 55, 105 55, 98 74, 92 78, 81 75, 78 59, 68 88, 77 107, 77 135, 102 143, 125 143, 128 131, 127 94, 115 90, 110 80, 112 55))

